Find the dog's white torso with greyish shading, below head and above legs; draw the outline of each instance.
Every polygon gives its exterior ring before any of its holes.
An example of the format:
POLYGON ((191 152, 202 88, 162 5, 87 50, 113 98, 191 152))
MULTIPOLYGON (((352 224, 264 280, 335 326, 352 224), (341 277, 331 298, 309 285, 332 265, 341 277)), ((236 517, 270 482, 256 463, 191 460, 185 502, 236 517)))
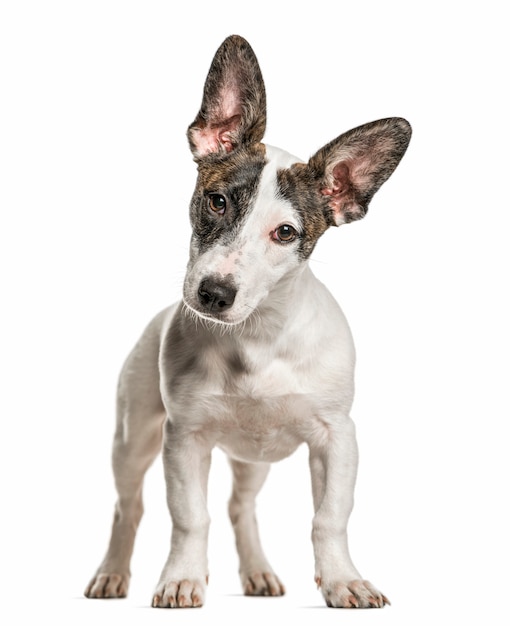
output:
POLYGON ((174 427, 244 461, 288 456, 352 403, 354 348, 342 311, 307 265, 285 280, 288 297, 242 328, 193 318, 182 303, 155 321, 174 427))

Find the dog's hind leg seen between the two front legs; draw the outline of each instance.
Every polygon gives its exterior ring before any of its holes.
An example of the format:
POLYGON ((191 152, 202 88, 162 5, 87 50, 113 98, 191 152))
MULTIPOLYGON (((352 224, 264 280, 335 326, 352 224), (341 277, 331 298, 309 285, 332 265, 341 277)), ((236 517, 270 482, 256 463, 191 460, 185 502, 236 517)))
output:
POLYGON ((269 463, 231 460, 234 484, 229 515, 234 528, 239 574, 245 595, 281 596, 285 588, 269 565, 260 543, 255 498, 269 472, 269 463))

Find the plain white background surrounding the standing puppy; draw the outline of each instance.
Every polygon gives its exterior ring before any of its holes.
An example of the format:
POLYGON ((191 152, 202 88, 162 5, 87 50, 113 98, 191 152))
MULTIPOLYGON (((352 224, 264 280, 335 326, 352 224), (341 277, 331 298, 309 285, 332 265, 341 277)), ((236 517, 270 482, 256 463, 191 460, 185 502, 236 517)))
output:
POLYGON ((0 4, 0 614, 6 624, 508 623, 508 21, 486 0, 0 4), (358 124, 414 128, 362 222, 312 260, 358 348, 353 558, 382 611, 322 608, 306 451, 259 503, 280 599, 240 595, 214 457, 205 608, 156 611, 170 523, 147 476, 127 600, 81 594, 106 548, 114 393, 179 297, 194 164, 185 130, 239 33, 266 141, 308 158, 358 124))

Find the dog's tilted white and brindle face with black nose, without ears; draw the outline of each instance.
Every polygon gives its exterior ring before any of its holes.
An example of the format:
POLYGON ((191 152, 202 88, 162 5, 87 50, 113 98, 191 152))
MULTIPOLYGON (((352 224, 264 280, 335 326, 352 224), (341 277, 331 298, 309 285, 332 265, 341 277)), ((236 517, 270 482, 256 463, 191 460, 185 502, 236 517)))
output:
POLYGON ((286 194, 298 160, 253 144, 199 163, 191 203, 190 261, 184 300, 201 316, 236 324, 249 317, 308 257, 327 228, 312 226, 286 194))

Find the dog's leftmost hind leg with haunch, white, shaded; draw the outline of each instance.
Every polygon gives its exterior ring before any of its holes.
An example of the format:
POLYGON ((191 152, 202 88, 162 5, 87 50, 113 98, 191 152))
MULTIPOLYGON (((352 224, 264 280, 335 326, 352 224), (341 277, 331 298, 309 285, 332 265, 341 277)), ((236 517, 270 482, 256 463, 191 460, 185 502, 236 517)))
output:
POLYGON ((154 323, 148 327, 120 376, 112 455, 118 499, 108 551, 85 590, 89 598, 127 595, 129 564, 143 513, 143 479, 161 450, 165 419, 159 392, 156 330, 154 323))

